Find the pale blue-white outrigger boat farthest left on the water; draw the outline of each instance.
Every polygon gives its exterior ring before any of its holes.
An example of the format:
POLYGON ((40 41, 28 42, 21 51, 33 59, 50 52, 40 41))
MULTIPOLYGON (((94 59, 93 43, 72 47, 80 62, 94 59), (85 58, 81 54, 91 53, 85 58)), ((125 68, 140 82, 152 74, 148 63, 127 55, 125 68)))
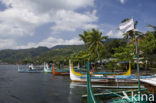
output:
POLYGON ((20 68, 18 65, 18 72, 19 73, 40 73, 43 72, 43 68, 40 66, 34 67, 32 64, 29 65, 29 67, 23 66, 20 68))

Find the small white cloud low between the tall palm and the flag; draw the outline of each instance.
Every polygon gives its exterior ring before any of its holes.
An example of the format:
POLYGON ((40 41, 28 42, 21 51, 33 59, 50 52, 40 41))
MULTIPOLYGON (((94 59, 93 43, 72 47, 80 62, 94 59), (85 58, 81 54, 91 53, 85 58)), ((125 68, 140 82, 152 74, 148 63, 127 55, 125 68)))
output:
POLYGON ((106 35, 109 38, 123 38, 123 33, 119 30, 110 30, 106 35))

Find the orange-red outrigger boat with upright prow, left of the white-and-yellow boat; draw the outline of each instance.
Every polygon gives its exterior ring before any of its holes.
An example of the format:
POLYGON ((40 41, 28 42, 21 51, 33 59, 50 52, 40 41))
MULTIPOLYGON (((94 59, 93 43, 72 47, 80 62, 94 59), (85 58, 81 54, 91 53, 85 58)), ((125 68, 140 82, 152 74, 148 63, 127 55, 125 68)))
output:
POLYGON ((55 69, 54 64, 52 64, 52 73, 54 75, 69 75, 68 69, 55 69))

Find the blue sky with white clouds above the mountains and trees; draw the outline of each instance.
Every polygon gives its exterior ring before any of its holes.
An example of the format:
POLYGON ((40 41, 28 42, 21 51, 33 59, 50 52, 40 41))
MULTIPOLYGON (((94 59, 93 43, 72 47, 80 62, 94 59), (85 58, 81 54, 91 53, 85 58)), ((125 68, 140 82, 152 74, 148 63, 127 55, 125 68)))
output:
POLYGON ((0 0, 0 50, 83 44, 78 34, 91 28, 122 38, 121 21, 137 29, 156 25, 156 0, 0 0))

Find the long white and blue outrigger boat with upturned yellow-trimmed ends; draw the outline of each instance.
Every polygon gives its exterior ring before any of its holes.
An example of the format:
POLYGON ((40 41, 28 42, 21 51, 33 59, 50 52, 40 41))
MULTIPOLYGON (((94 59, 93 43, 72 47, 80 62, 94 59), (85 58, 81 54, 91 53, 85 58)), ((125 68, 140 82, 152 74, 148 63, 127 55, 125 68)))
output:
MULTIPOLYGON (((76 72, 73 68, 73 64, 70 62, 70 79, 73 82, 87 82, 87 75, 84 73, 76 72)), ((153 76, 140 76, 140 78, 151 78, 153 76)), ((129 69, 124 74, 114 74, 114 75, 106 75, 105 74, 95 74, 91 75, 91 82, 95 83, 103 83, 103 82, 137 82, 137 77, 135 75, 131 75, 131 65, 129 64, 129 69)))

